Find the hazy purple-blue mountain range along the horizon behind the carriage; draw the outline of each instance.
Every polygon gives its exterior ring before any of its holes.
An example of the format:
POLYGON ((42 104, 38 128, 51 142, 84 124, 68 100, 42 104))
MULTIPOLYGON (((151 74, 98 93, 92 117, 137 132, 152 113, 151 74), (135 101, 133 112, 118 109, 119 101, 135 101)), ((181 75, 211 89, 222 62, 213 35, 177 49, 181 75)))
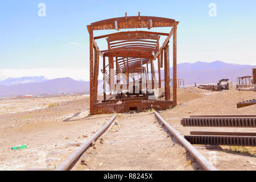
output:
MULTIPOLYGON (((185 85, 217 83, 222 78, 228 78, 236 82, 237 77, 251 76, 252 68, 256 66, 228 64, 222 61, 212 63, 196 62, 181 63, 177 65, 177 78, 184 79, 185 85)), ((158 72, 158 71, 156 71, 158 72)), ((172 68, 170 68, 172 78, 172 68)), ((164 71, 161 70, 161 78, 164 79, 164 71)), ((108 85, 106 90, 108 92, 108 85)), ((8 78, 0 81, 0 97, 18 95, 40 95, 55 94, 57 92, 74 93, 89 92, 90 83, 84 80, 73 80, 72 78, 56 78, 48 80, 44 76, 8 78)), ((103 92, 103 82, 99 80, 98 92, 103 92)))

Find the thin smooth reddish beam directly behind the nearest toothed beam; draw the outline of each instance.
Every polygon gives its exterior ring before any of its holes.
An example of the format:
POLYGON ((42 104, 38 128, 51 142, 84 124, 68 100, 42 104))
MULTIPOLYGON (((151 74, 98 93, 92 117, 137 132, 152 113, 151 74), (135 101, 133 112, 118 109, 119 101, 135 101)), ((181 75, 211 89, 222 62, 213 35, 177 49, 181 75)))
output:
POLYGON ((245 132, 214 132, 214 131, 191 131, 191 135, 212 135, 212 136, 249 136, 256 137, 256 133, 245 132))

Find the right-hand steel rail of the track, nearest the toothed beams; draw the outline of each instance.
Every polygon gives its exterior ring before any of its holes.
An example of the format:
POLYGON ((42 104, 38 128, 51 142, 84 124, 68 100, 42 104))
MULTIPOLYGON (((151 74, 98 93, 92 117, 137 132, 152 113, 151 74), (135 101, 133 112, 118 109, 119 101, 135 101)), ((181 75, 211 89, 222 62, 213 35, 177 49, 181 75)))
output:
POLYGON ((199 162, 202 168, 206 171, 218 171, 205 157, 196 150, 184 137, 182 137, 173 127, 171 127, 164 119, 155 111, 155 117, 162 122, 168 131, 188 150, 188 152, 199 162))

